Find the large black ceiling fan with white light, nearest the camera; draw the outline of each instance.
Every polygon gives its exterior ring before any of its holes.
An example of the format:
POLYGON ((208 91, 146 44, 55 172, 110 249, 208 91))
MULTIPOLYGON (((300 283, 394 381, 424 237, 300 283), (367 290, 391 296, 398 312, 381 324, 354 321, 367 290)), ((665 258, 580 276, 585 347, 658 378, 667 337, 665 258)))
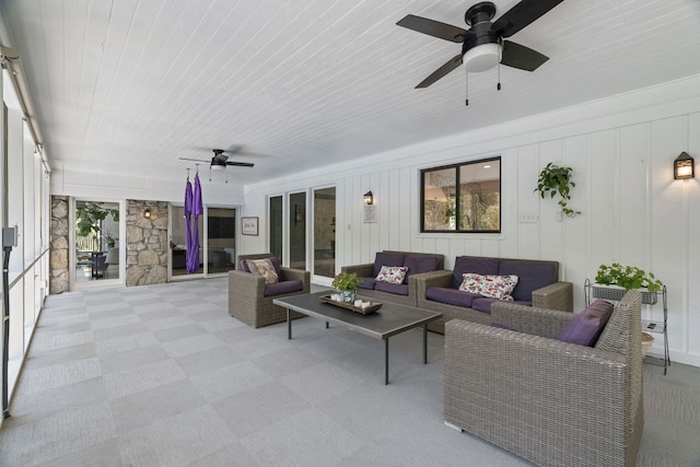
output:
MULTIPOLYGON (((413 14, 407 15, 396 24, 441 39, 462 43, 462 51, 433 71, 416 89, 428 87, 463 63, 467 72, 486 71, 499 62, 521 70, 535 71, 549 58, 503 38, 528 26, 562 1, 522 0, 494 22, 491 20, 495 15, 495 4, 490 1, 475 3, 464 15, 469 30, 413 14)), ((468 103, 467 101, 467 105, 468 103)))

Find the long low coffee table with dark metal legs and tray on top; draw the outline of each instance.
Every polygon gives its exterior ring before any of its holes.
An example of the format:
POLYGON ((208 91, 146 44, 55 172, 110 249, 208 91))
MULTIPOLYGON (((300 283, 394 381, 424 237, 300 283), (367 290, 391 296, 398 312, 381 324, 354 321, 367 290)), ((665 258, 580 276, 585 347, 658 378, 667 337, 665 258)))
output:
MULTIPOLYGON (((322 296, 332 292, 327 290, 272 300, 276 305, 287 308, 289 339, 292 338, 290 312, 324 319, 326 328, 328 328, 329 323, 335 323, 365 336, 382 339, 384 340, 384 384, 389 384, 389 337, 422 326, 423 364, 428 363, 428 323, 440 319, 442 313, 383 302, 378 311, 363 315, 320 301, 322 296)), ((358 296, 358 299, 362 299, 362 296, 358 296)), ((370 299, 365 297, 364 300, 370 299)))

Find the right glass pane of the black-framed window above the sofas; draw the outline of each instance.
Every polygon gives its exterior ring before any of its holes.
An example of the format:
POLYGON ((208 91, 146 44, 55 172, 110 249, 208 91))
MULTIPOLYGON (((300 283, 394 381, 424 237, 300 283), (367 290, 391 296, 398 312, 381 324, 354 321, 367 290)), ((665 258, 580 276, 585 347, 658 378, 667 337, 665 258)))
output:
POLYGON ((459 167, 459 230, 501 230, 501 162, 459 167))

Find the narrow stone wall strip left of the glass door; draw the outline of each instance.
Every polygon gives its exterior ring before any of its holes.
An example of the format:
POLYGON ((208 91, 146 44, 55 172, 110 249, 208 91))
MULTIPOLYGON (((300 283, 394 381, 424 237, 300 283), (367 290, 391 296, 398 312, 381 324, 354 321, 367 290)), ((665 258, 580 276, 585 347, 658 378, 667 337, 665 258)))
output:
POLYGON ((49 293, 57 294, 70 289, 68 273, 68 197, 51 196, 50 256, 49 256, 49 293))

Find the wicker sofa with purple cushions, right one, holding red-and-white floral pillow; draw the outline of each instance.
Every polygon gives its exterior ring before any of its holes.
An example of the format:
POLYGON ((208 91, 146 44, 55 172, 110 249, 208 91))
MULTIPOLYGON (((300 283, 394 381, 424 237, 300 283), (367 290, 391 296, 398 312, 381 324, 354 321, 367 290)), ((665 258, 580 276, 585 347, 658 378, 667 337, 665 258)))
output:
POLYGON ((573 284, 559 281, 559 262, 537 259, 458 256, 452 271, 420 276, 416 281, 416 306, 440 312, 443 317, 428 328, 444 334, 450 319, 491 324, 491 304, 497 299, 472 295, 459 290, 463 275, 515 275, 518 283, 513 291, 515 303, 548 310, 573 311, 573 284))

